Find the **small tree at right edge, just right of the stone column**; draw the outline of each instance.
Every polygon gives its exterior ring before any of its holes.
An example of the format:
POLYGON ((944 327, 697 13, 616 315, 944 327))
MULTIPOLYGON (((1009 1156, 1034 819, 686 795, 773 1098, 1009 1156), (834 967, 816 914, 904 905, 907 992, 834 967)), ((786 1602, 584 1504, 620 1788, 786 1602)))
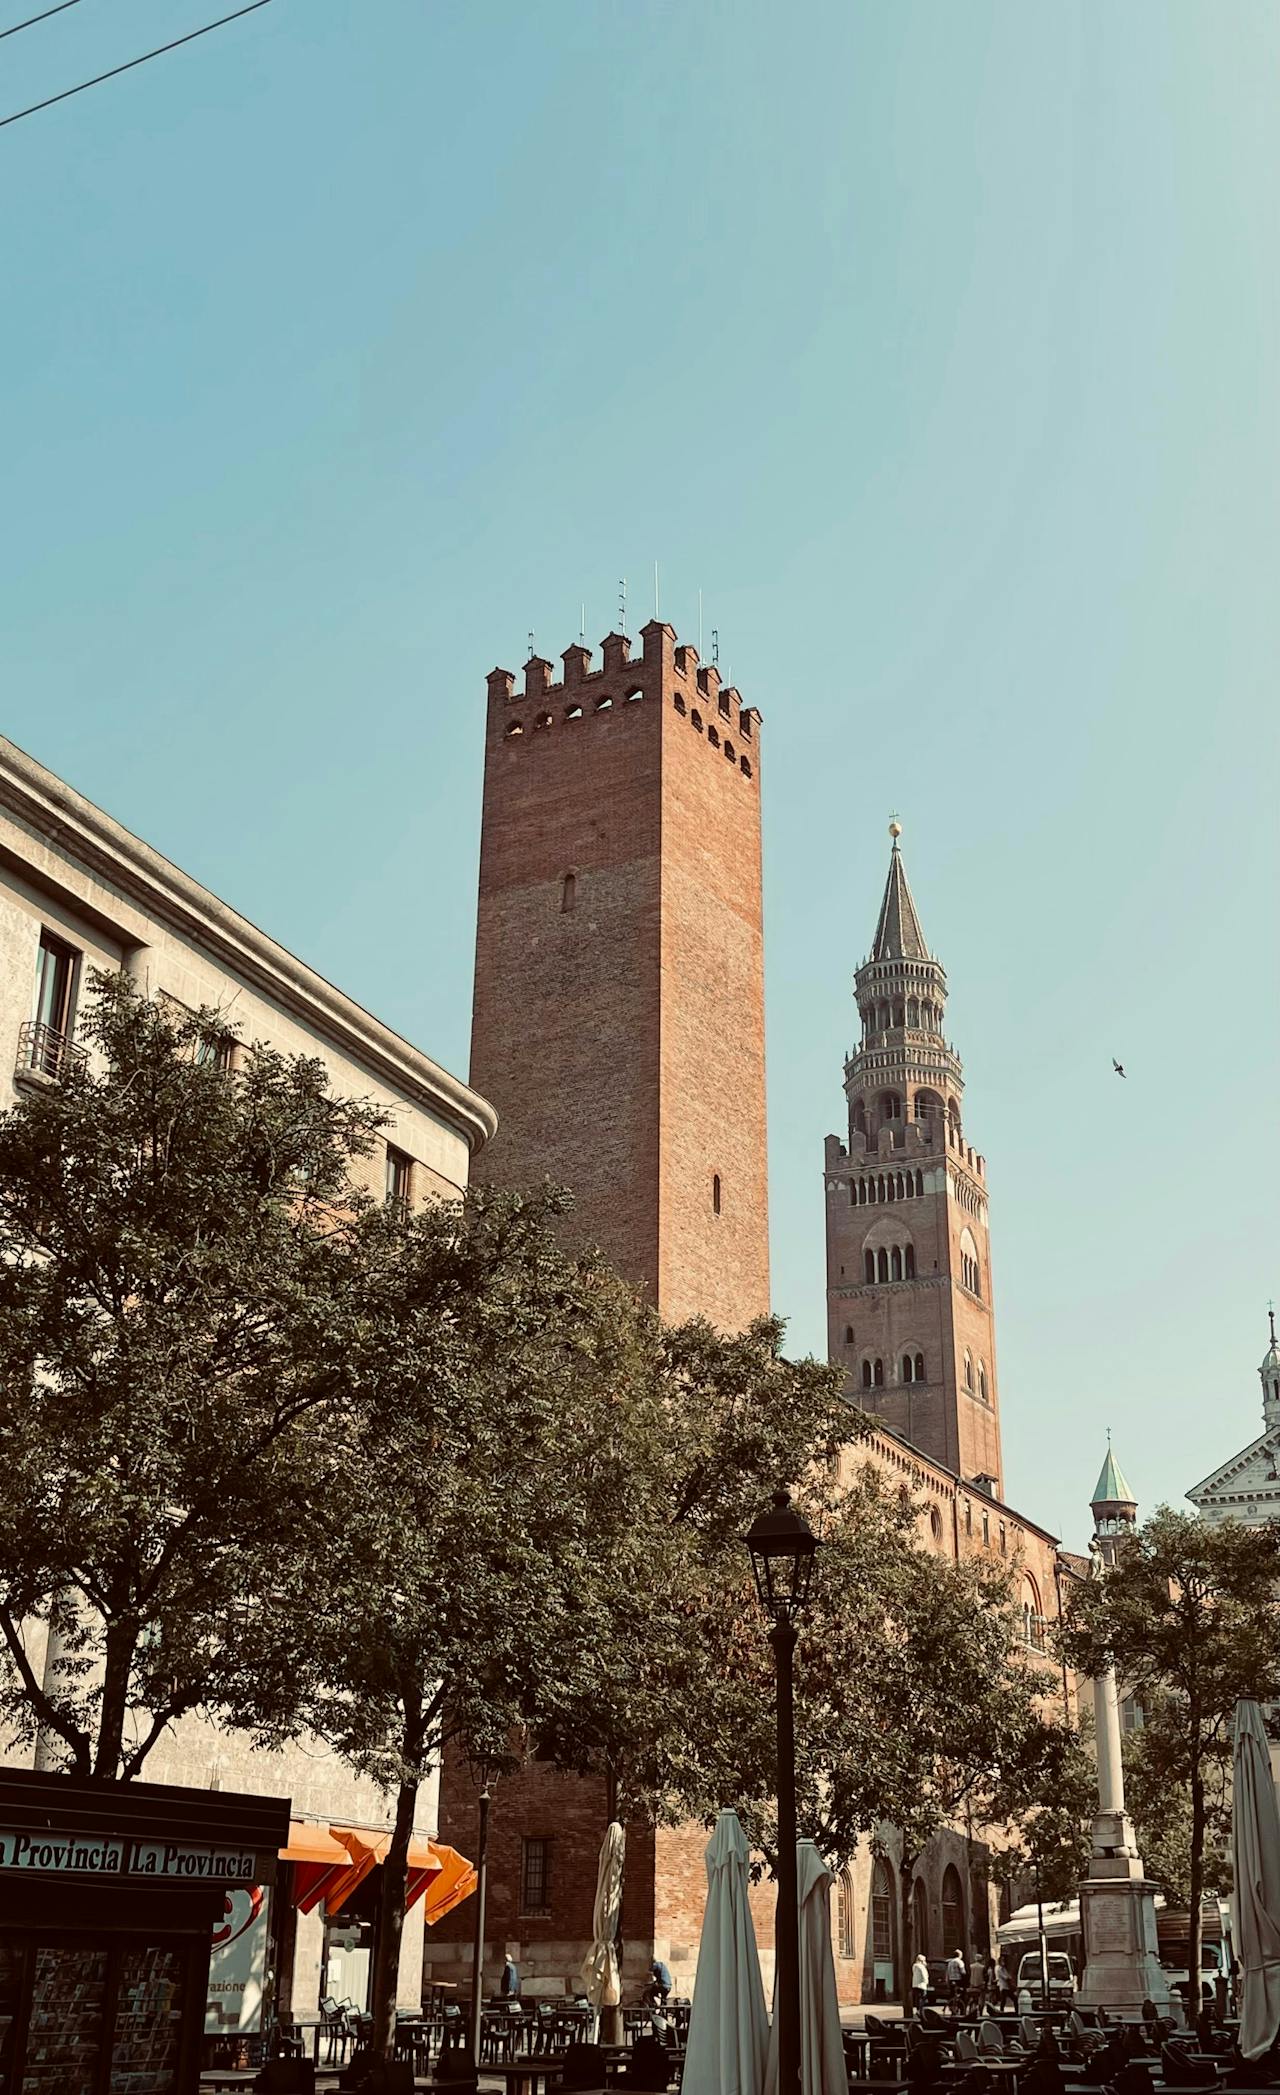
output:
POLYGON ((1117 1676, 1152 1712, 1140 1795, 1148 1821, 1190 1808, 1186 1896, 1190 1976, 1200 1969, 1200 1900, 1215 1798, 1240 1697, 1280 1695, 1280 1527, 1211 1525, 1161 1506, 1112 1567, 1071 1596, 1062 1649, 1077 1672, 1117 1676))

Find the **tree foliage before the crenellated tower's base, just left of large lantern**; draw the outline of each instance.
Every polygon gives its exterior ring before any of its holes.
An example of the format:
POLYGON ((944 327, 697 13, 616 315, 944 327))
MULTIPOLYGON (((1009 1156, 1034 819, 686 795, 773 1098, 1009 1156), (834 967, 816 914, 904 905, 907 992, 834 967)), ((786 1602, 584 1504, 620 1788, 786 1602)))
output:
POLYGON ((733 1726, 767 1737, 771 1655, 744 1536, 779 1485, 825 1475, 867 1420, 840 1370, 784 1358, 777 1318, 735 1335, 704 1318, 656 1324, 654 1341, 643 1402, 616 1423, 612 1546, 538 1747, 603 1777, 610 1816, 679 1823, 735 1802, 733 1726))

